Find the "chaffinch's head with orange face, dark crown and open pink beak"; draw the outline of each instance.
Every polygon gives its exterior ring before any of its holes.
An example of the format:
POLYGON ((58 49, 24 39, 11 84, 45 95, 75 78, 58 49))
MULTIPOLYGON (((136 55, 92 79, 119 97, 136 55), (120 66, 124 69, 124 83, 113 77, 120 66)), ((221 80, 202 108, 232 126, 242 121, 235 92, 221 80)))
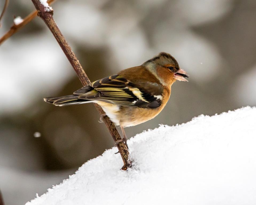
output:
POLYGON ((179 67, 178 62, 168 53, 161 52, 146 61, 145 66, 157 79, 166 86, 172 85, 176 80, 188 81, 188 73, 179 67))

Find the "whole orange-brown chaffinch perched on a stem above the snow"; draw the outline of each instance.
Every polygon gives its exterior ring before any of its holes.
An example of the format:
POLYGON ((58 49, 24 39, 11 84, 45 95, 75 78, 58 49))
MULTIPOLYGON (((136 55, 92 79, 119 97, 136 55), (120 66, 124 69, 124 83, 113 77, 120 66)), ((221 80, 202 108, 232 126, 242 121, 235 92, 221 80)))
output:
POLYGON ((142 65, 121 70, 119 73, 94 81, 71 95, 47 97, 45 102, 56 106, 94 102, 120 126, 127 145, 124 127, 131 127, 156 117, 166 106, 171 86, 176 81, 188 81, 188 73, 179 67, 169 53, 161 52, 142 65))

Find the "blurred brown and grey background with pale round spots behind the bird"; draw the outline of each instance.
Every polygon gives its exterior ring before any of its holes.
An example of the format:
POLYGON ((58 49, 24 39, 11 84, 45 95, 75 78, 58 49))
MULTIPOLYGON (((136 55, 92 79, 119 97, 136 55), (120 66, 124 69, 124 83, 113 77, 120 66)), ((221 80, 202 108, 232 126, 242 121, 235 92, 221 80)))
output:
MULTIPOLYGON (((1 0, 0 10, 3 5, 1 0)), ((126 128, 129 137, 159 124, 256 105, 254 0, 58 0, 52 7, 91 81, 162 51, 190 74, 188 83, 172 86, 155 119, 126 128)), ((14 15, 24 18, 33 10, 31 1, 10 1, 0 36, 14 15)), ((113 147, 93 104, 55 107, 43 101, 81 86, 38 17, 0 46, 0 189, 6 204, 25 204, 113 147)))

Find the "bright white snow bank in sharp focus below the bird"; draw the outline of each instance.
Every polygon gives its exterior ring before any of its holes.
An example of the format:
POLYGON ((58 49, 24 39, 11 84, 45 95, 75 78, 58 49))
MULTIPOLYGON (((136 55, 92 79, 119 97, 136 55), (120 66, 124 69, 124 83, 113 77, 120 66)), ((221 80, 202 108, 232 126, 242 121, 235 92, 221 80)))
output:
POLYGON ((255 204, 255 120, 246 107, 161 125, 128 141, 129 171, 113 148, 26 205, 255 204))

